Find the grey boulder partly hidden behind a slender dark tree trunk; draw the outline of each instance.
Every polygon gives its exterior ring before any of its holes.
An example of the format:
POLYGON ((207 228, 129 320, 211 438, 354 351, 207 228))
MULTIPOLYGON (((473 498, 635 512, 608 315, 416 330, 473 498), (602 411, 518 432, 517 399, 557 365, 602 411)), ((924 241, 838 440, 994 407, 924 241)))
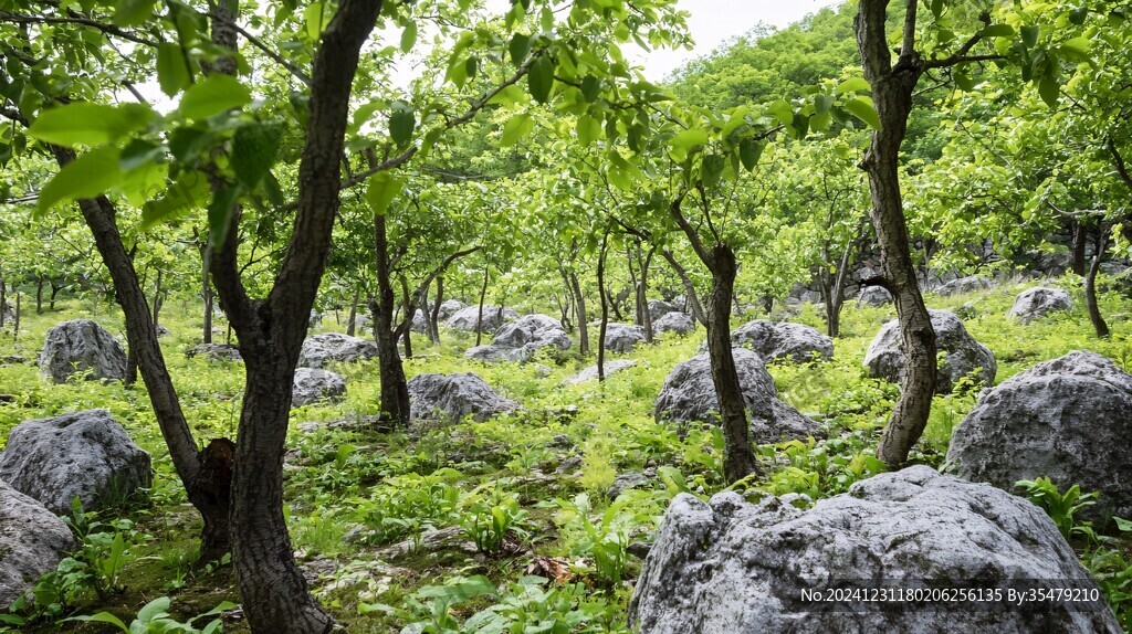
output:
MULTIPOLYGON (((757 354, 746 348, 732 348, 731 353, 755 442, 775 443, 783 438, 806 438, 818 434, 817 423, 778 399, 774 379, 757 354)), ((672 370, 657 397, 653 411, 657 420, 719 423, 719 398, 706 353, 672 370)))

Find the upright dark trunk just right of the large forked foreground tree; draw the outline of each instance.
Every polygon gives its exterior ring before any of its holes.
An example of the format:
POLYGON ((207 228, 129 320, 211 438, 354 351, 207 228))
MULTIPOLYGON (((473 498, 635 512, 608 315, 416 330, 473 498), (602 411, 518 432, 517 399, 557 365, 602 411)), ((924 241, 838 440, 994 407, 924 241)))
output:
MULTIPOLYGON (((381 419, 389 428, 409 426, 409 381, 397 350, 393 323, 394 294, 389 271, 389 245, 385 215, 374 216, 375 257, 377 264, 377 298, 371 301, 374 339, 377 342, 377 367, 381 384, 381 419)), ((410 318, 411 319, 411 318, 410 318)), ((408 340, 408 332, 405 333, 408 340)))

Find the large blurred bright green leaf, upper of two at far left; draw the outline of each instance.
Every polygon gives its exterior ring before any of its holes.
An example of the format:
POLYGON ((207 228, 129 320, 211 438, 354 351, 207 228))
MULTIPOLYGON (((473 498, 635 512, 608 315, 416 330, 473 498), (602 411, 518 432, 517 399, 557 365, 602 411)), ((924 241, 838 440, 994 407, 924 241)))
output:
POLYGON ((44 111, 27 133, 57 146, 98 146, 140 130, 154 113, 142 104, 117 106, 79 102, 44 111))

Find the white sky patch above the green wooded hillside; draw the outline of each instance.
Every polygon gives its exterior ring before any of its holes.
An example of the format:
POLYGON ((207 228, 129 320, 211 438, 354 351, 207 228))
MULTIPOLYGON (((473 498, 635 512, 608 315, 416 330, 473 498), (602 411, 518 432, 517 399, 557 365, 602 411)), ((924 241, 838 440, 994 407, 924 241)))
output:
POLYGON ((758 23, 779 28, 798 21, 807 14, 824 7, 840 5, 842 0, 680 0, 679 7, 688 11, 688 32, 695 49, 640 51, 637 61, 644 66, 645 77, 653 81, 664 79, 670 72, 695 58, 706 55, 727 40, 751 31, 758 23))

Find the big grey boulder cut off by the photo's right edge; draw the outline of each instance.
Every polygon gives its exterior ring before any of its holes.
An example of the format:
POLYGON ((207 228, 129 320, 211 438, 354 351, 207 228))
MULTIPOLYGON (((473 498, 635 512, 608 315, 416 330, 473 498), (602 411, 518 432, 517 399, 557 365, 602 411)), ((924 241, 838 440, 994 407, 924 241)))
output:
POLYGON ((1073 351, 986 393, 947 450, 959 476, 1015 490, 1047 476, 1062 490, 1099 492, 1094 518, 1132 518, 1132 375, 1096 353, 1073 351))

